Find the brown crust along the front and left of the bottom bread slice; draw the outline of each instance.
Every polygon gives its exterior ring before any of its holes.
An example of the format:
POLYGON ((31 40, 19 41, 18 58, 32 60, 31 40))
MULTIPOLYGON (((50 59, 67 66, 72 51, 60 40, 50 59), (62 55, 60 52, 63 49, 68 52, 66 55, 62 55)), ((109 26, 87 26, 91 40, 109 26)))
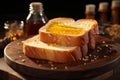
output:
POLYGON ((82 57, 80 47, 73 47, 70 50, 63 51, 63 50, 47 49, 43 47, 35 47, 29 45, 28 42, 33 41, 34 38, 37 38, 36 36, 38 35, 35 35, 29 39, 22 41, 23 52, 28 57, 50 60, 60 63, 74 62, 82 57))

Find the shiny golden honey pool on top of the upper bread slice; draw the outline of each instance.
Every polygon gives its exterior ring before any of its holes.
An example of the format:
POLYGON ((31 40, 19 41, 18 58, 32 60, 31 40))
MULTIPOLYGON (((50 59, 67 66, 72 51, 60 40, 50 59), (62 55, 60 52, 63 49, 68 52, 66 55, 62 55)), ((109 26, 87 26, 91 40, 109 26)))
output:
POLYGON ((55 34, 78 35, 80 33, 83 33, 85 30, 84 28, 77 28, 77 27, 69 26, 63 23, 53 23, 47 28, 46 31, 52 32, 55 34))

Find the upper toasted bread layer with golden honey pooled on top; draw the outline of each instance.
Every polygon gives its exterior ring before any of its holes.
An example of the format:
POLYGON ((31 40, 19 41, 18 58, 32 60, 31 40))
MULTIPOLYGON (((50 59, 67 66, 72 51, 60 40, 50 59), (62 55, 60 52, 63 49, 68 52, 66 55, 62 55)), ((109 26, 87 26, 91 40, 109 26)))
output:
POLYGON ((39 29, 40 40, 48 44, 82 46, 90 42, 89 33, 98 33, 95 20, 54 18, 39 29))

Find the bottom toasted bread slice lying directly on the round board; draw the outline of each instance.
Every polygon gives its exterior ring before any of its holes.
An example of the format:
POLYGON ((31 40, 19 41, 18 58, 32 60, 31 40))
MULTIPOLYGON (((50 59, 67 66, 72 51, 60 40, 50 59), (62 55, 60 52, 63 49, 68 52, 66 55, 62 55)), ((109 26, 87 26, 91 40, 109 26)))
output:
POLYGON ((67 63, 74 62, 82 57, 80 47, 46 44, 39 40, 39 35, 35 35, 22 42, 24 54, 31 58, 67 63))

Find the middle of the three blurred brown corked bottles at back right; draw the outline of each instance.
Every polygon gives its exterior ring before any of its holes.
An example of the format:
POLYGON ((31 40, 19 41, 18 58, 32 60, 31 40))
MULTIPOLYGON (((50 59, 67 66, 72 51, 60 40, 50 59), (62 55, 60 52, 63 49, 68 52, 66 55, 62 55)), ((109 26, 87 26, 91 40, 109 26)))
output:
POLYGON ((98 24, 100 35, 107 36, 106 28, 110 26, 110 22, 108 20, 108 10, 109 3, 108 2, 100 2, 98 7, 98 24))

